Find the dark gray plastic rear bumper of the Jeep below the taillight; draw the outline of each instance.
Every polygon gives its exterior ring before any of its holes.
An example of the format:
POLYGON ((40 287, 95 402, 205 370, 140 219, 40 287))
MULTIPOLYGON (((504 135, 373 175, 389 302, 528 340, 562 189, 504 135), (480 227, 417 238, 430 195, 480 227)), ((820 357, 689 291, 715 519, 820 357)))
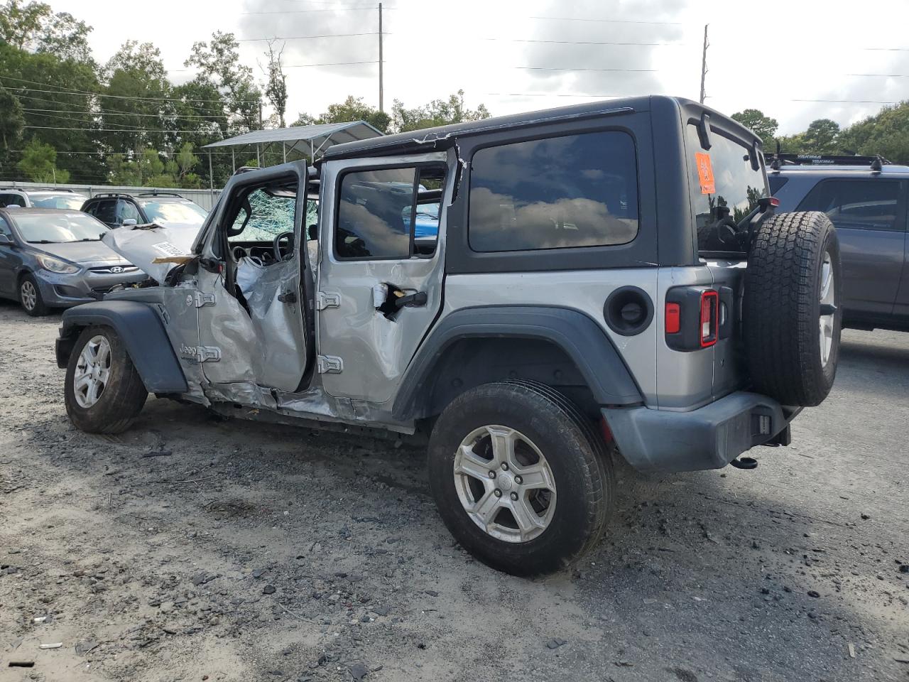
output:
POLYGON ((726 466, 744 451, 774 440, 797 411, 738 391, 691 412, 607 407, 615 444, 638 471, 697 471, 726 466), (788 415, 788 417, 787 417, 788 415))

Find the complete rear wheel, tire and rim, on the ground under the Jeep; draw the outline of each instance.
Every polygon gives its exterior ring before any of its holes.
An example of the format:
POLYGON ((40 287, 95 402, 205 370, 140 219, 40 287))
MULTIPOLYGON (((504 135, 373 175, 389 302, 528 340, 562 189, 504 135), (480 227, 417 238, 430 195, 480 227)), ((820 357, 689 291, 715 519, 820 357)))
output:
POLYGON ((457 396, 435 423, 428 470, 454 538, 513 575, 569 566, 611 516, 614 475, 603 438, 549 386, 509 381, 457 396))

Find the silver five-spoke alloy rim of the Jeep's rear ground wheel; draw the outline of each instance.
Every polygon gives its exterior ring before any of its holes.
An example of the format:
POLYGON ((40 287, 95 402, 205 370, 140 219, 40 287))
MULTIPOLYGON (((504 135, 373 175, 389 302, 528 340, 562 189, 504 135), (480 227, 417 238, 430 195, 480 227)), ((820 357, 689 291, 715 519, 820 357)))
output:
POLYGON ((454 454, 453 473, 464 511, 491 537, 529 542, 553 520, 552 468, 540 448, 517 429, 474 429, 454 454))

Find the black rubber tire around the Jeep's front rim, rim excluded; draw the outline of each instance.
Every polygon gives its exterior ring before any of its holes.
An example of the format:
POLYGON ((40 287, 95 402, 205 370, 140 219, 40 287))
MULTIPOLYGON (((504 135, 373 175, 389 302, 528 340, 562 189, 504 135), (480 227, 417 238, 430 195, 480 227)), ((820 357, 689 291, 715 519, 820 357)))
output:
POLYGON ((133 365, 133 360, 123 346, 120 336, 108 326, 86 327, 75 342, 69 364, 66 366, 65 403, 66 414, 80 431, 90 434, 123 433, 142 411, 148 391, 142 377, 133 365), (88 339, 103 334, 111 345, 112 380, 95 405, 85 409, 75 403, 73 376, 79 354, 88 339), (115 373, 115 364, 119 371, 115 373), (97 408, 97 409, 96 409, 97 408))

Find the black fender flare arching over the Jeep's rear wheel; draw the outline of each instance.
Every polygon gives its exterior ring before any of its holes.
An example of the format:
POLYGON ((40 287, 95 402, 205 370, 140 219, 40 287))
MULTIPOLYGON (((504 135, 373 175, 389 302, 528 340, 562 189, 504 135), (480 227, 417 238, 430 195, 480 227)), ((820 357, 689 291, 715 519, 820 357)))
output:
POLYGON ((602 326, 584 313, 558 306, 475 306, 455 310, 432 328, 407 367, 392 413, 412 418, 445 350, 467 338, 529 338, 561 348, 584 376, 600 405, 644 402, 634 377, 602 326))

